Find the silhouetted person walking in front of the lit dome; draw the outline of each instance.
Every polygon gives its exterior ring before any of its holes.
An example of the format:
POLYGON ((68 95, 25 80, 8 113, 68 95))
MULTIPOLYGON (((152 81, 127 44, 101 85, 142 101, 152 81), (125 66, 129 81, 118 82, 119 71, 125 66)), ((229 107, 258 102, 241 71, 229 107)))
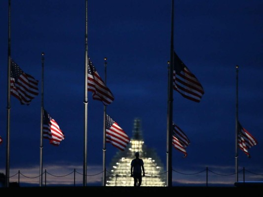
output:
POLYGON ((134 179, 135 187, 140 187, 142 184, 142 172, 143 176, 145 176, 144 161, 139 156, 139 152, 136 152, 135 159, 131 161, 131 177, 134 179))

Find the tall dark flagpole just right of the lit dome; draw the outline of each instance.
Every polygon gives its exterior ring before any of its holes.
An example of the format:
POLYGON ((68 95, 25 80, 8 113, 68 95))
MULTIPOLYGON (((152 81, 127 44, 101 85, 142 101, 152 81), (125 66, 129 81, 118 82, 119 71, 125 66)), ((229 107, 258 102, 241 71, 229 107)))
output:
POLYGON ((174 70, 174 0, 172 0, 171 14, 171 48, 170 48, 170 70, 168 81, 168 109, 167 109, 167 144, 166 144, 166 165, 167 165, 167 186, 172 187, 172 134, 173 134, 173 70, 174 70))

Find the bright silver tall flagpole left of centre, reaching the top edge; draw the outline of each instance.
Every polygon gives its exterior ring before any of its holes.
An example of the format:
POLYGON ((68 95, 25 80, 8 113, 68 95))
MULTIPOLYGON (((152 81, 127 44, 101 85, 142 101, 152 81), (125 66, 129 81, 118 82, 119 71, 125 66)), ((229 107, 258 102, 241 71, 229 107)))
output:
POLYGON ((84 78, 84 151, 83 151, 83 186, 87 185, 87 133, 88 133, 88 0, 85 2, 85 78, 84 78))

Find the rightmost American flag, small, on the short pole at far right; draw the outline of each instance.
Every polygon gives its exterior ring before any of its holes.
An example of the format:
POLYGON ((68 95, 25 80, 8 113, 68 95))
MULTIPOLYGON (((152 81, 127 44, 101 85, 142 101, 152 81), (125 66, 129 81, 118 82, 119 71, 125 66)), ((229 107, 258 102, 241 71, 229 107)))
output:
POLYGON ((237 141, 239 148, 250 158, 248 149, 257 145, 257 140, 238 122, 237 141))

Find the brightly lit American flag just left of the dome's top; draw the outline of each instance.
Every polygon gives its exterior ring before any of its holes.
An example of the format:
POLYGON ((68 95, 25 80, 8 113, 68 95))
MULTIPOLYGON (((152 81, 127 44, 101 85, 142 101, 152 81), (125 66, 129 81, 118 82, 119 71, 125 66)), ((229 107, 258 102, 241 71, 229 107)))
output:
POLYGON ((114 147, 121 151, 124 151, 130 142, 126 132, 108 114, 106 114, 106 142, 112 143, 114 147))

